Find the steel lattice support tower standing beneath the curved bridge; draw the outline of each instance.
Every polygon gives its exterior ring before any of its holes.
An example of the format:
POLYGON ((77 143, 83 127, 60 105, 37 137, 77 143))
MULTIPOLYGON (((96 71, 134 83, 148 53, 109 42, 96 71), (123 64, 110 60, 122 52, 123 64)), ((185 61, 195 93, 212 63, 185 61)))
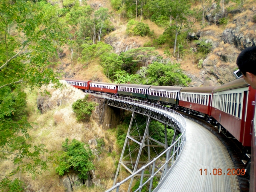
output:
MULTIPOLYGON (((132 111, 134 110, 131 109, 132 111)), ((141 118, 141 117, 140 117, 141 118)), ((167 137, 167 126, 165 125, 165 141, 164 143, 161 143, 160 141, 154 139, 156 135, 160 136, 160 132, 158 127, 152 126, 149 129, 149 124, 151 122, 150 114, 146 117, 145 120, 140 122, 136 119, 136 115, 133 112, 131 116, 131 121, 128 127, 128 131, 125 138, 125 143, 122 148, 122 153, 120 156, 119 164, 116 170, 116 175, 114 178, 113 186, 117 183, 117 178, 119 173, 121 172, 120 169, 126 169, 131 175, 137 171, 141 166, 144 166, 148 162, 150 162, 152 159, 157 157, 158 154, 161 153, 161 151, 168 148, 168 137, 167 137), (153 137, 153 138, 152 138, 153 137), (132 149, 131 149, 132 145, 132 149), (142 151, 144 148, 144 155, 142 155, 142 151), (163 148, 162 150, 158 150, 156 148, 163 148), (148 153, 148 154, 145 154, 148 153)), ((170 138, 169 138, 170 139, 170 138)), ((175 141, 175 140, 174 140, 175 141)), ((166 154, 166 157, 168 157, 169 154, 166 154)), ((160 163, 160 162, 158 162, 160 163)), ((149 166, 147 168, 147 172, 144 173, 144 177, 151 176, 154 169, 159 169, 158 166, 152 167, 149 166)), ((166 171, 160 171, 159 175, 157 177, 160 177, 165 174, 164 172, 167 172, 168 167, 166 168, 166 171)), ((138 174, 136 176, 141 176, 141 174, 138 174)), ((134 177, 136 177, 134 176, 134 177)), ((134 177, 129 180, 129 188, 128 191, 131 190, 134 177)))

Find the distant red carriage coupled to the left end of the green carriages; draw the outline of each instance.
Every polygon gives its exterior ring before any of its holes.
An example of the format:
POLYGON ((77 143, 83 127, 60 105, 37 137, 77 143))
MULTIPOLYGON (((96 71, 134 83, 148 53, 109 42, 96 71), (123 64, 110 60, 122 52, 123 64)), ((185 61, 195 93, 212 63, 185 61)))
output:
POLYGON ((103 82, 90 82, 90 90, 105 92, 105 93, 117 93, 118 84, 103 83, 103 82))

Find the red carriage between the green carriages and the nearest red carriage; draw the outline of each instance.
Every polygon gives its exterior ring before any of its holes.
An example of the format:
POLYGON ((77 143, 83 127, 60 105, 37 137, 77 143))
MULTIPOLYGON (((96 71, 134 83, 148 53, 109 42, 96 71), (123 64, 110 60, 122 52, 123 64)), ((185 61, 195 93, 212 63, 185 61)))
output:
POLYGON ((206 117, 211 114, 212 90, 215 87, 184 87, 180 90, 179 105, 189 113, 198 112, 206 117))

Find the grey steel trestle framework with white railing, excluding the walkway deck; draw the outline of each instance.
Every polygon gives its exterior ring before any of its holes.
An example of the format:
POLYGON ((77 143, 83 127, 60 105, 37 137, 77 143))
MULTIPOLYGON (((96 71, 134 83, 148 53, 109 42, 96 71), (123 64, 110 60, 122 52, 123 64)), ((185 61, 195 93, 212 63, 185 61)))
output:
POLYGON ((130 191, 133 180, 137 176, 140 176, 140 186, 136 190, 136 192, 141 191, 143 187, 146 187, 148 191, 151 192, 153 179, 158 177, 159 179, 157 180, 160 182, 165 177, 170 168, 174 165, 175 161, 180 155, 180 152, 185 144, 186 120, 176 111, 163 107, 161 105, 140 101, 137 99, 131 99, 127 97, 108 95, 105 93, 93 95, 96 97, 101 97, 102 99, 107 99, 107 104, 109 106, 132 111, 132 118, 125 138, 125 144, 122 149, 122 154, 119 160, 113 187, 107 190, 107 192, 110 192, 113 189, 119 191, 120 185, 122 183, 125 183, 126 181, 129 181, 130 183, 128 187, 128 191, 130 191), (135 113, 147 116, 146 122, 144 123, 146 126, 143 130, 143 135, 140 135, 140 133, 139 135, 134 134, 134 131, 139 131, 139 127, 141 126, 136 122, 136 119, 134 118, 135 113), (155 119, 165 124, 165 143, 161 143, 157 140, 154 140, 151 137, 152 133, 150 133, 148 129, 151 119, 155 119), (136 126, 132 126, 134 121, 136 126), (169 147, 167 145, 166 125, 174 129, 172 145, 169 147), (181 135, 179 138, 176 139, 177 134, 179 133, 181 133, 181 135), (137 144, 137 147, 133 150, 130 150, 129 143, 132 142, 137 144), (142 150, 145 147, 147 147, 148 161, 141 161, 140 157, 142 154, 142 150), (153 148, 154 150, 154 148, 156 147, 162 147, 165 150, 162 151, 160 154, 156 153, 157 157, 152 157, 150 153, 152 149, 150 150, 150 148, 153 148), (128 149, 129 153, 124 156, 125 149, 128 149), (133 160, 133 158, 131 157, 131 154, 134 153, 135 151, 137 152, 136 161, 133 160), (130 158, 128 158, 129 160, 127 160, 128 156, 130 156, 130 158), (162 157, 162 160, 160 159, 160 157, 162 157), (140 167, 142 166, 140 169, 138 167, 139 164, 140 167), (124 167, 131 175, 125 178, 125 180, 122 180, 121 182, 116 184, 116 179, 119 174, 119 170, 121 170, 121 166, 124 167), (147 170, 149 174, 144 173, 145 170, 147 170), (145 178, 147 178, 147 180, 143 183, 143 179, 145 180, 145 178))

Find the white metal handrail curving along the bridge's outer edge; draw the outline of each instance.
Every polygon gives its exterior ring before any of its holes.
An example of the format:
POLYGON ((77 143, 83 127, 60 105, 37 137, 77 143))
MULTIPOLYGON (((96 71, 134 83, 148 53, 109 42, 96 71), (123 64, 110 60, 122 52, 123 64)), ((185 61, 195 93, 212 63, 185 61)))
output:
POLYGON ((175 161, 177 160, 177 158, 179 157, 179 155, 180 155, 180 153, 183 149, 183 146, 184 146, 185 141, 186 141, 186 137, 185 137, 186 120, 184 119, 183 116, 180 115, 180 113, 177 113, 176 111, 174 111, 170 108, 166 108, 166 107, 163 107, 161 105, 154 104, 154 103, 135 100, 135 99, 122 97, 122 96, 108 95, 106 93, 98 93, 98 94, 93 93, 92 95, 99 96, 99 97, 102 97, 102 98, 105 98, 105 99, 113 99, 113 100, 120 101, 120 102, 128 102, 128 103, 132 103, 134 105, 140 105, 140 107, 143 107, 143 108, 149 108, 149 109, 157 111, 159 113, 165 113, 165 115, 167 117, 177 120, 176 123, 180 127, 180 131, 181 131, 182 134, 175 141, 175 143, 173 143, 171 146, 169 146, 165 151, 163 151, 160 155, 158 155, 156 158, 154 158, 148 164, 146 164, 145 166, 143 166, 142 168, 140 168, 139 170, 134 172, 132 175, 130 175, 129 177, 122 180, 121 182, 116 183, 115 186, 111 187, 111 189, 108 189, 106 191, 106 192, 111 192, 112 190, 116 189, 116 192, 119 192, 119 188, 123 183, 125 183, 126 181, 128 181, 132 177, 135 177, 136 175, 141 175, 141 177, 140 177, 140 186, 134 192, 138 192, 138 191, 141 192, 143 186, 145 186, 149 182, 150 182, 149 183, 149 192, 151 192, 152 187, 153 187, 152 185, 153 185, 154 176, 156 176, 158 172, 162 172, 162 176, 161 176, 161 180, 162 180, 165 177, 165 175, 167 174, 168 170, 174 165, 175 161), (172 114, 175 114, 175 116, 173 116, 172 114), (164 154, 166 154, 166 161, 155 172, 157 160, 159 160, 159 158, 162 157, 164 154), (148 167, 150 169, 152 167, 151 176, 148 177, 148 179, 143 183, 144 172, 145 172, 145 169, 148 168, 148 167))

